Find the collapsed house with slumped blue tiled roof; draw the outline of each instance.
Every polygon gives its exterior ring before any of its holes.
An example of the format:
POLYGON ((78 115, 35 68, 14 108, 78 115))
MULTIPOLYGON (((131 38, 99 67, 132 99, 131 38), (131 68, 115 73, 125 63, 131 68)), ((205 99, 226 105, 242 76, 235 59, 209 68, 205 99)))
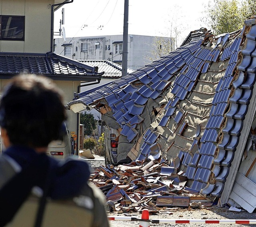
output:
POLYGON ((256 207, 256 19, 214 36, 191 32, 182 46, 67 104, 96 108, 120 133, 118 160, 167 161, 186 188, 211 201, 256 207))

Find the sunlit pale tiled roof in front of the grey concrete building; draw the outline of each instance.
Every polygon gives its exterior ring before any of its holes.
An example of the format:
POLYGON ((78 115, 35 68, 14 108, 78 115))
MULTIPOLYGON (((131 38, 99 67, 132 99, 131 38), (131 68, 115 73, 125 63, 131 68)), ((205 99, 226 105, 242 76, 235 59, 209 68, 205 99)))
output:
MULTIPOLYGON (((82 62, 87 66, 97 66, 99 72, 104 72, 103 78, 121 78, 122 76, 122 66, 110 62, 108 60, 78 60, 78 62, 82 62)), ((127 69, 127 73, 130 74, 134 70, 127 69)))

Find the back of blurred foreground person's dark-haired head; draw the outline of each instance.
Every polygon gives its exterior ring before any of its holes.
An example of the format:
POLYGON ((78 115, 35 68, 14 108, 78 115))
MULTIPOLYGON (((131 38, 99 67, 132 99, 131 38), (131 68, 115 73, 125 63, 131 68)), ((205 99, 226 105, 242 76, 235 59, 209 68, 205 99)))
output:
POLYGON ((62 139, 66 110, 52 80, 31 74, 15 76, 0 99, 0 126, 10 143, 46 147, 62 139))

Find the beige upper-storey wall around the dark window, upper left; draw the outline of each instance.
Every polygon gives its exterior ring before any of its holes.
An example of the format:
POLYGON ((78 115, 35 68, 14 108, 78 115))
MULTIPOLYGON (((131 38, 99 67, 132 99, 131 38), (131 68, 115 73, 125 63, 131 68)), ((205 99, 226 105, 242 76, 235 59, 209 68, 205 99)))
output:
POLYGON ((0 14, 25 16, 25 40, 0 40, 0 52, 50 51, 51 10, 54 0, 0 0, 0 14))

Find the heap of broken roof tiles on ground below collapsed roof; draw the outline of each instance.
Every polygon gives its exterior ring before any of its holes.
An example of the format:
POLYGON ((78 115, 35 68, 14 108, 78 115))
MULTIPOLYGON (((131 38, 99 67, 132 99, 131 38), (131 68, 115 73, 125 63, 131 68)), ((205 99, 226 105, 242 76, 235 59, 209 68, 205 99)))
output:
POLYGON ((210 207, 212 202, 198 191, 186 187, 183 171, 162 159, 146 159, 118 166, 94 169, 90 181, 106 196, 111 211, 158 213, 166 207, 210 207))

